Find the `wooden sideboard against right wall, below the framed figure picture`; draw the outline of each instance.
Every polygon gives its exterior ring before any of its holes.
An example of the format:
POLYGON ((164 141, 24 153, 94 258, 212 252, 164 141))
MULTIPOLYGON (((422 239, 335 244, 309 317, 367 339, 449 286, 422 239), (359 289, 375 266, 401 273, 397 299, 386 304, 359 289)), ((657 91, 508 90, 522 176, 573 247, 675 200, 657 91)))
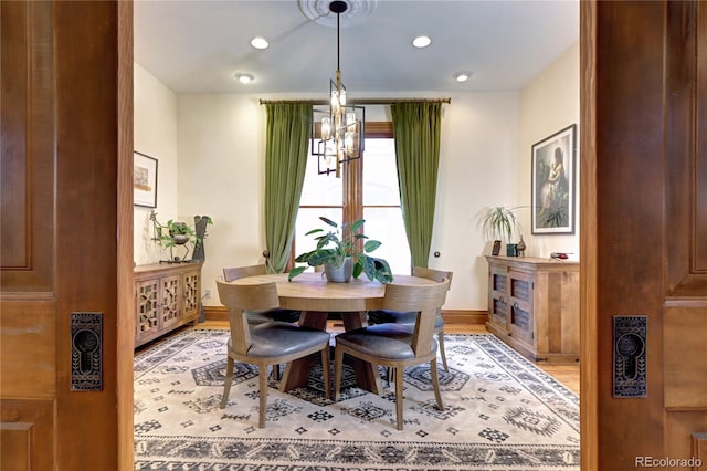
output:
POLYGON ((579 262, 486 259, 488 331, 534 362, 578 362, 579 262))

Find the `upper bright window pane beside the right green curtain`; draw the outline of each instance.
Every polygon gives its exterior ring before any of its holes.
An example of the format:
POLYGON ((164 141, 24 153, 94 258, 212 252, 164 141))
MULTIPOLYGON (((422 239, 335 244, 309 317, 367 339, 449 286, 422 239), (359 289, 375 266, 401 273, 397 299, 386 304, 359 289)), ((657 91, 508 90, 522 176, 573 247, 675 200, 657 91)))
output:
POLYGON ((400 206, 393 139, 366 139, 363 206, 400 206))

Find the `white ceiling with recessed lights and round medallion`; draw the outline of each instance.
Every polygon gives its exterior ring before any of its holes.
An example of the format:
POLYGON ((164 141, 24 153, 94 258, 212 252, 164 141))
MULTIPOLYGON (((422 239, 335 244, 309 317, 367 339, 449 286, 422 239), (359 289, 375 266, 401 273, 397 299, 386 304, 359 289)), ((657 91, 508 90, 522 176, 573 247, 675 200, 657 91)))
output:
MULTIPOLYGON (((577 0, 346 0, 340 66, 349 96, 371 92, 514 91, 579 39, 577 0), (355 2, 355 3, 352 3, 355 2), (420 34, 425 49, 412 46, 420 34), (464 83, 453 80, 472 72, 464 83)), ((337 67, 330 25, 304 12, 328 0, 136 0, 135 62, 175 93, 313 93, 337 67), (266 50, 250 45, 270 41, 266 50), (244 85, 238 72, 255 80, 244 85)), ((326 19, 325 19, 326 21, 326 19)))

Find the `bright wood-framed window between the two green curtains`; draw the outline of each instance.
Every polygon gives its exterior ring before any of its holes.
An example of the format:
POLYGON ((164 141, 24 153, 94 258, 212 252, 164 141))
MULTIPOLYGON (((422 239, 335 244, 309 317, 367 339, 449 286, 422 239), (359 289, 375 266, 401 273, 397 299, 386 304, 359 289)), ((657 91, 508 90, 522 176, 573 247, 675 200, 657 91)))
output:
POLYGON ((395 148, 390 123, 366 123, 366 151, 344 164, 341 178, 317 174, 317 160, 307 160, 291 258, 313 250, 309 230, 324 228, 320 216, 334 221, 366 219, 365 231, 382 242, 372 254, 386 259, 393 273, 410 273, 411 258, 402 220, 395 148))

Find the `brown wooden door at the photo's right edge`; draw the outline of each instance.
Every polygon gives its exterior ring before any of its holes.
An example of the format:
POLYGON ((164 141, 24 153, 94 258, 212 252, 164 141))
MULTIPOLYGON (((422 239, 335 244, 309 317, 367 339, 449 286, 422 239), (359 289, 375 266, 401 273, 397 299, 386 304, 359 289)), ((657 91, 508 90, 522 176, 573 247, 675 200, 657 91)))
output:
POLYGON ((707 432, 707 4, 582 11, 583 469, 689 460, 707 432), (647 397, 612 394, 616 315, 647 318, 647 397))

